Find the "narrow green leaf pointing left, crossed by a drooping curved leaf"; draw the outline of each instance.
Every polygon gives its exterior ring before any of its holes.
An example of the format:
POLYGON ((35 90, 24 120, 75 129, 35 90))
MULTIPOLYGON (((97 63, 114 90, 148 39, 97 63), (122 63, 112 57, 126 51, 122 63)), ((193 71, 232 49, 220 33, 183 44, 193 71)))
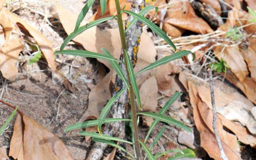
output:
MULTIPOLYGON (((131 121, 131 119, 127 119, 127 118, 105 118, 102 121, 102 124, 109 124, 109 123, 118 122, 118 121, 131 121)), ((74 129, 86 128, 86 127, 89 127, 89 126, 97 126, 97 125, 98 125, 98 120, 80 122, 80 123, 77 123, 77 124, 67 126, 65 128, 64 132, 69 132, 69 131, 72 131, 74 129)))

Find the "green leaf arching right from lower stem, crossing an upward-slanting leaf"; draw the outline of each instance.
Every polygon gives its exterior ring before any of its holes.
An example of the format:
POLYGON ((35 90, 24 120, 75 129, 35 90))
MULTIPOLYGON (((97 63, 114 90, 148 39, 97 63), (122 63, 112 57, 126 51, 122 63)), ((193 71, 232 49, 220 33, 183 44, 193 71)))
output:
POLYGON ((165 115, 160 115, 160 114, 153 113, 153 112, 139 112, 137 114, 138 115, 145 115, 145 116, 157 119, 159 121, 165 122, 167 124, 175 125, 179 128, 182 128, 182 129, 186 130, 187 132, 191 132, 191 129, 188 126, 186 126, 185 124, 183 124, 180 121, 177 121, 177 120, 175 120, 171 117, 167 117, 165 115))

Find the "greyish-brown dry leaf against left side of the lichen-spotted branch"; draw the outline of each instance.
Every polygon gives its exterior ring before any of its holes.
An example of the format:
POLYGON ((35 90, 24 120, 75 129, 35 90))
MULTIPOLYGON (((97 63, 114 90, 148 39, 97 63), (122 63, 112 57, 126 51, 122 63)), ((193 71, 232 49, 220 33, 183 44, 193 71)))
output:
POLYGON ((97 119, 101 113, 102 108, 107 104, 111 98, 111 77, 113 72, 109 72, 102 81, 100 81, 89 94, 88 108, 84 115, 80 118, 79 122, 90 119, 97 119))

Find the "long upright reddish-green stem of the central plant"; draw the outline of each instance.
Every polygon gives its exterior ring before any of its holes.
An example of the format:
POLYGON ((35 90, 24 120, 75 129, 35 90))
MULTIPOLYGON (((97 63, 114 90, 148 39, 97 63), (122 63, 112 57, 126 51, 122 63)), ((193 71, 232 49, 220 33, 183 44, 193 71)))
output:
MULTIPOLYGON (((122 22, 122 14, 121 14, 121 10, 120 10, 119 0, 115 0, 115 3, 116 3, 119 34, 120 34, 120 38, 121 38, 121 42, 122 42, 122 51, 123 51, 123 54, 127 54, 124 52, 125 50, 127 50, 127 47, 126 47, 126 42, 125 42, 125 32, 124 32, 124 27, 123 27, 123 22, 122 22)), ((135 150, 136 150, 137 158, 139 160, 142 160, 141 154, 140 154, 140 143, 139 143, 139 136, 138 136, 137 111, 136 111, 136 105, 135 105, 134 90, 131 86, 130 75, 128 73, 128 67, 127 67, 127 63, 126 63, 127 62, 126 56, 124 56, 124 58, 125 58, 125 69, 126 69, 126 73, 128 76, 129 91, 130 91, 132 126, 133 126, 133 131, 134 131, 135 150)))

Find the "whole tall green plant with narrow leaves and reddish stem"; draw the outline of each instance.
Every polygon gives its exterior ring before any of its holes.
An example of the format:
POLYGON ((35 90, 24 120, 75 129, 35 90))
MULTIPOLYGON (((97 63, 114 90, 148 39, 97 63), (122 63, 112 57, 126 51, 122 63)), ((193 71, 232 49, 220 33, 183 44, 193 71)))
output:
MULTIPOLYGON (((115 147, 123 150, 124 152, 126 152, 131 157, 131 159, 142 160, 141 150, 140 150, 140 145, 141 145, 143 147, 143 149, 145 150, 148 159, 155 160, 156 157, 159 157, 163 154, 153 155, 150 150, 152 149, 154 144, 157 142, 157 140, 162 136, 164 128, 161 129, 161 132, 157 135, 157 138, 151 144, 149 149, 145 145, 145 142, 146 142, 146 139, 149 137, 152 129, 154 128, 154 126, 156 126, 156 124, 159 121, 165 122, 167 124, 175 125, 177 127, 185 129, 188 132, 191 132, 191 130, 189 129, 188 126, 182 124, 181 122, 176 121, 175 119, 167 117, 167 116, 164 115, 164 113, 167 111, 167 109, 172 104, 172 102, 177 100, 177 98, 180 97, 181 93, 179 93, 179 92, 175 93, 172 96, 172 98, 170 98, 170 100, 166 103, 166 105, 163 107, 163 109, 160 110, 159 113, 137 112, 135 97, 137 98, 137 102, 138 102, 138 105, 139 105, 140 109, 143 110, 143 108, 141 107, 140 93, 139 93, 139 89, 138 89, 137 82, 136 82, 136 75, 144 72, 145 70, 150 70, 150 69, 155 68, 157 66, 164 65, 164 64, 166 64, 166 63, 168 63, 172 60, 179 59, 179 58, 181 58, 181 57, 183 57, 187 54, 190 54, 190 53, 193 54, 193 59, 195 59, 195 54, 190 52, 190 51, 178 51, 178 52, 174 53, 173 55, 166 56, 163 59, 160 59, 160 60, 158 60, 154 63, 151 63, 150 65, 148 65, 147 67, 143 68, 142 70, 140 70, 138 73, 135 74, 134 69, 133 69, 133 65, 131 64, 130 57, 127 53, 127 47, 126 47, 126 41, 125 41, 125 31, 123 29, 123 22, 122 22, 122 13, 123 12, 128 13, 128 14, 130 14, 134 17, 134 20, 130 23, 130 25, 134 24, 137 20, 143 22, 145 25, 147 25, 149 28, 151 28, 151 30, 154 31, 158 36, 163 38, 176 51, 175 45, 172 43, 171 39, 169 39, 169 37, 165 34, 165 32, 163 30, 161 30, 153 22, 151 22, 150 20, 148 20, 147 18, 145 18, 143 16, 149 10, 154 9, 154 6, 145 7, 142 11, 140 11, 140 13, 136 14, 136 13, 131 12, 131 11, 126 11, 126 10, 124 10, 124 8, 121 10, 120 5, 119 5, 119 0, 115 0, 117 16, 105 17, 105 18, 102 18, 102 19, 99 19, 99 20, 95 20, 93 22, 89 22, 89 23, 87 23, 87 25, 84 25, 84 26, 80 27, 81 21, 84 19, 85 15, 87 14, 89 8, 92 6, 93 2, 94 2, 94 0, 88 0, 87 1, 88 4, 86 4, 84 6, 81 13, 79 14, 79 17, 78 17, 77 22, 76 22, 75 30, 73 31, 73 33, 71 33, 69 36, 67 36, 67 38, 64 40, 63 44, 61 45, 60 51, 56 51, 55 54, 68 54, 68 55, 74 55, 74 56, 83 56, 83 57, 107 59, 111 63, 114 70, 116 70, 117 75, 122 79, 122 81, 124 81, 126 87, 124 89, 122 89, 121 91, 119 91, 119 93, 114 95, 108 101, 106 106, 102 109, 102 112, 99 115, 98 120, 86 121, 86 122, 82 122, 82 123, 78 123, 78 124, 73 124, 71 126, 68 126, 65 129, 65 132, 71 131, 73 129, 88 127, 88 126, 97 126, 99 133, 81 131, 81 132, 79 132, 79 134, 90 136, 96 142, 107 143, 108 145, 115 146, 115 147), (121 38, 121 42, 122 42, 122 51, 124 53, 124 62, 122 62, 118 59, 114 59, 113 56, 111 56, 111 53, 106 48, 102 48, 102 52, 104 54, 93 53, 93 52, 90 52, 90 51, 81 51, 81 50, 64 50, 64 47, 68 44, 68 42, 70 40, 72 40, 74 37, 76 37, 77 35, 81 34, 83 31, 86 31, 87 29, 89 29, 91 27, 94 27, 94 26, 96 26, 96 25, 98 25, 102 22, 105 22, 105 21, 111 20, 111 19, 117 19, 117 22, 118 22, 119 34, 120 34, 120 38, 121 38), (124 76, 123 70, 121 69, 121 67, 119 66, 119 64, 117 62, 125 64, 127 78, 124 76), (127 92, 127 90, 129 90, 129 94, 130 94, 130 105, 131 105, 131 113, 132 113, 131 116, 130 116, 131 119, 106 118, 106 115, 108 114, 112 104, 116 101, 116 99, 122 93, 127 92), (137 120, 138 115, 145 115, 145 116, 148 116, 148 117, 151 117, 151 118, 155 119, 153 124, 151 125, 151 127, 149 129, 148 135, 145 138, 144 142, 141 142, 139 137, 138 137, 138 128, 137 128, 138 127, 138 123, 137 123, 138 122, 138 120, 137 120), (115 137, 111 137, 111 136, 102 134, 102 129, 101 129, 102 124, 107 124, 107 123, 116 122, 116 121, 130 121, 132 142, 130 142, 128 140, 122 140, 122 139, 119 139, 119 138, 115 138, 115 137), (123 147, 117 145, 113 141, 120 141, 120 142, 124 142, 124 143, 133 145, 135 154, 133 155, 133 154, 127 152, 123 147)), ((106 0, 101 0, 100 2, 101 2, 101 7, 102 7, 102 13, 104 13, 105 8, 106 8, 106 3, 105 3, 106 0)), ((156 10, 157 10, 157 8, 156 8, 156 10)), ((128 29, 129 29, 129 25, 128 25, 126 31, 128 29)), ((180 152, 180 150, 174 150, 174 151, 169 151, 169 152, 180 152)))

